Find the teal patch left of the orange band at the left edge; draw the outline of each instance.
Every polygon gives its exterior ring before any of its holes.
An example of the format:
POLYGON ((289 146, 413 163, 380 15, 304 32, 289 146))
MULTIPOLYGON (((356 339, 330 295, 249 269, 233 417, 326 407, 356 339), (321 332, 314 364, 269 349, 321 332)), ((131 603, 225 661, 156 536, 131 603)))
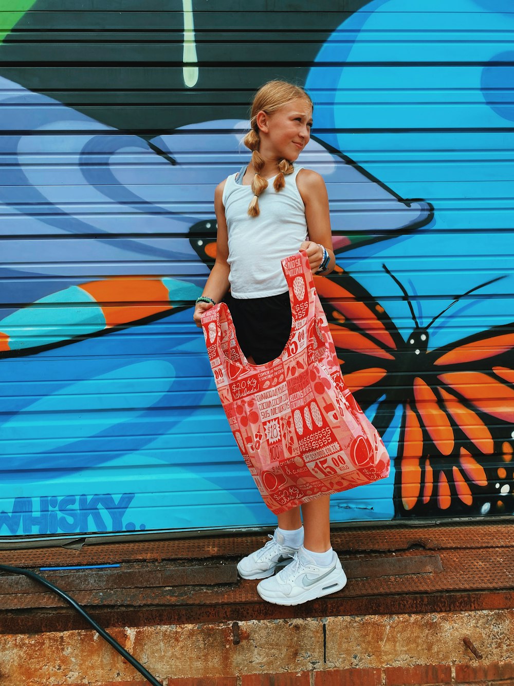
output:
POLYGON ((0 331, 9 336, 11 350, 59 343, 77 335, 102 331, 106 318, 101 307, 91 307, 91 303, 96 304, 96 300, 86 291, 70 286, 12 312, 0 321, 0 331), (79 307, 79 303, 87 303, 88 307, 79 307), (69 307, 48 307, 53 304, 69 307))

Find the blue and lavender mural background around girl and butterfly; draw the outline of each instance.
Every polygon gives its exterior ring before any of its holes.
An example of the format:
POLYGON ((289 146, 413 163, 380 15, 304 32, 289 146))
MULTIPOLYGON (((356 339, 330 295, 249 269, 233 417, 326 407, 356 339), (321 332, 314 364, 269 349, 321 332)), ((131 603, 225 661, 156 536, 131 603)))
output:
MULTIPOLYGON (((432 348, 512 321, 513 24, 500 0, 376 0, 342 16, 306 75, 299 162, 327 182, 338 264, 403 338, 413 316, 382 265, 421 326, 501 277, 430 327, 432 348)), ((0 97, 0 535, 273 523, 191 318, 208 274, 191 227, 209 239, 215 185, 247 160, 245 120, 192 113, 143 137, 1 76, 0 97)), ((403 411, 384 434, 392 458, 403 411)), ((332 521, 398 516, 399 468, 333 497, 332 521)))

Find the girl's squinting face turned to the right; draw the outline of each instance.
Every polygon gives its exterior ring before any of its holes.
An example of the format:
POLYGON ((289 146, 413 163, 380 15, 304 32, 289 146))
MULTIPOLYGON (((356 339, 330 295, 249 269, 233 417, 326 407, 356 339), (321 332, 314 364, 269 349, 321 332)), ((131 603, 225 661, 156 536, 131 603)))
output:
POLYGON ((310 139, 313 109, 308 100, 298 97, 271 115, 257 115, 261 154, 294 162, 310 139))

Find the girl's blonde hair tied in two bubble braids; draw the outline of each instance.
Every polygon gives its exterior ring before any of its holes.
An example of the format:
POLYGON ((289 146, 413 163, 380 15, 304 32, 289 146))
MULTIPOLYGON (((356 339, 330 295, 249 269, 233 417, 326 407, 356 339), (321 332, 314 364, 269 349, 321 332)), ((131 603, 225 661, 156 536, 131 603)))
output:
MULTIPOLYGON (((248 206, 248 214, 250 217, 258 217, 259 204, 258 197, 262 191, 268 187, 268 180, 260 176, 260 171, 265 165, 265 160, 259 152, 260 138, 259 128, 257 126, 257 115, 259 112, 265 112, 271 115, 273 112, 280 110, 281 107, 291 102, 297 97, 306 99, 312 108, 314 108, 313 101, 301 86, 295 86, 286 81, 269 81, 264 86, 261 86, 252 102, 252 109, 250 110, 250 126, 252 127, 243 139, 243 143, 249 150, 252 150, 252 167, 255 169, 254 179, 252 180, 252 191, 254 197, 248 206)), ((273 188, 276 191, 282 190, 286 185, 285 177, 293 174, 293 163, 289 160, 282 159, 278 163, 279 173, 273 181, 273 188)))

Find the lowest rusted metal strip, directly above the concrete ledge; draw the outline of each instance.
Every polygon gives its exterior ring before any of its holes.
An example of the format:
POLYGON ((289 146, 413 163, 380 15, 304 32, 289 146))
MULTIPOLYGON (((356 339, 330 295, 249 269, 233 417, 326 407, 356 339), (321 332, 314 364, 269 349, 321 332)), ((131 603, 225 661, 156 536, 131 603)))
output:
MULTIPOLYGON (((367 598, 326 596, 298 606, 266 602, 225 605, 151 606, 145 608, 86 608, 101 626, 169 626, 245 622, 251 619, 308 619, 351 615, 397 615, 480 610, 511 610, 514 591, 473 593, 412 593, 371 595, 367 598)), ((88 629, 88 624, 68 608, 45 611, 11 611, 0 614, 1 634, 26 634, 88 629)))

